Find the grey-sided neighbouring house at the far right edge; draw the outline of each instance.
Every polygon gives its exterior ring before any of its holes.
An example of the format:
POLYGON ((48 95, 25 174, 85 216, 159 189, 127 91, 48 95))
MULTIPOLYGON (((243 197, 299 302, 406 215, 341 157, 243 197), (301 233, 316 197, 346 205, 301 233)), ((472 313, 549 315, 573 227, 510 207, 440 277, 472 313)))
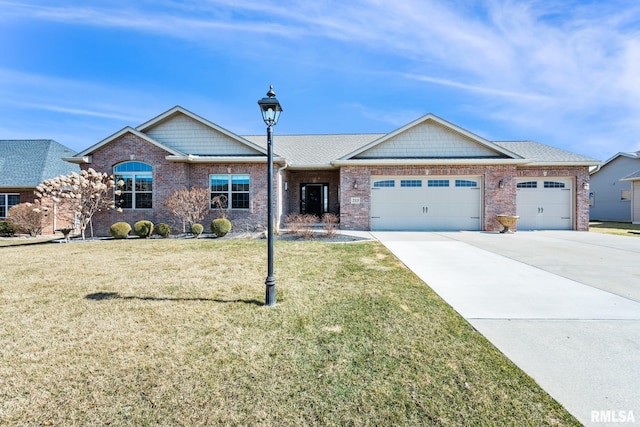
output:
POLYGON ((640 170, 640 151, 618 153, 591 172, 589 217, 592 221, 631 221, 632 181, 640 170))

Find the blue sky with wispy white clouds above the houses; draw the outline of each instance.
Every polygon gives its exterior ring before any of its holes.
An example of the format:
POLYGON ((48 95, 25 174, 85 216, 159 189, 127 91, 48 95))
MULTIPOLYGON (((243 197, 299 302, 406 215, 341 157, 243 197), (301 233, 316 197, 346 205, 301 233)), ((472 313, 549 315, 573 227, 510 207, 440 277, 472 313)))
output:
POLYGON ((0 139, 82 150, 175 105, 240 135, 433 113, 606 160, 640 150, 636 0, 0 0, 0 139))

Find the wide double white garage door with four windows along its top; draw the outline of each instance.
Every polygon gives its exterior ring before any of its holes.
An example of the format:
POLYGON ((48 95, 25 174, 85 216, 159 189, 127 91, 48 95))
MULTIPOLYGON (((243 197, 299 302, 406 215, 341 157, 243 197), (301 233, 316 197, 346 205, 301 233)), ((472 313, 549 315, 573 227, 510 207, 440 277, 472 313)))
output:
POLYGON ((480 177, 377 177, 372 230, 481 230, 480 177))

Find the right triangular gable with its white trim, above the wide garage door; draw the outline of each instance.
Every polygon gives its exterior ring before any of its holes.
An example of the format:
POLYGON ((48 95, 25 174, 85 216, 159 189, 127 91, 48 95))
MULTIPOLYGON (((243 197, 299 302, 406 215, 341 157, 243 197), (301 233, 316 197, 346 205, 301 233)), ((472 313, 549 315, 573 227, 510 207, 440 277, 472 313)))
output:
POLYGON ((427 114, 343 157, 348 159, 520 159, 484 138, 427 114))

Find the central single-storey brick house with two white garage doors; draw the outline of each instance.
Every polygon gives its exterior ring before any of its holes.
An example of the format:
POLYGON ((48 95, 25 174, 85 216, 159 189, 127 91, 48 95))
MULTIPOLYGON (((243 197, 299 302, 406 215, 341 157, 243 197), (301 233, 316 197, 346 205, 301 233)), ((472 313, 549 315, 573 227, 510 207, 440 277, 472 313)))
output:
MULTIPOLYGON (((123 212, 94 218, 173 222, 164 202, 203 187, 229 200, 236 230, 266 223, 265 135, 240 136, 176 106, 125 127, 68 161, 125 182, 123 212)), ((277 220, 338 214, 353 230, 501 230, 589 227, 589 167, 597 160, 535 142, 488 141, 433 114, 389 134, 274 136, 277 220)), ((216 215, 211 211, 205 225, 216 215)))

